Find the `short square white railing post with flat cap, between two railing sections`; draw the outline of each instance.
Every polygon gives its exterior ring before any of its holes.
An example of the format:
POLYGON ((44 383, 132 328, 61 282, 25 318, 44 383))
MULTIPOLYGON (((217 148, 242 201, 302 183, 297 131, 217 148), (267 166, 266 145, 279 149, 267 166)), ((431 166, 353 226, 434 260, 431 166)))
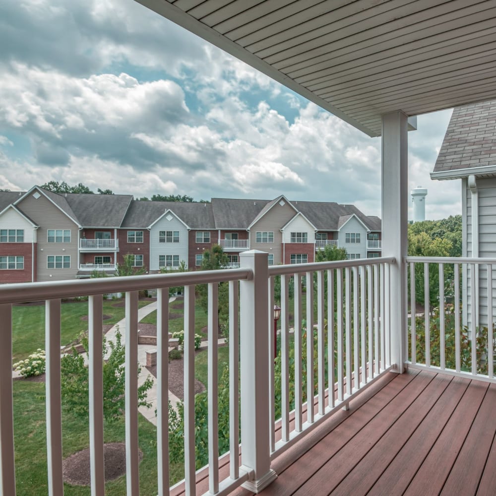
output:
POLYGON ((240 260, 253 271, 252 279, 240 283, 241 461, 251 473, 243 487, 259 493, 277 477, 269 450, 268 255, 249 250, 240 260))

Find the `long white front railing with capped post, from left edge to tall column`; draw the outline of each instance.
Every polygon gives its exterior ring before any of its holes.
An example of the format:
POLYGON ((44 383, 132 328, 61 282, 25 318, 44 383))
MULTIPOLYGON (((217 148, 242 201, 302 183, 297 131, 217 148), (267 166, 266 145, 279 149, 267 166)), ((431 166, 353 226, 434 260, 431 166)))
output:
MULTIPOLYGON (((392 258, 271 266, 267 254, 240 255, 242 268, 119 278, 9 284, 0 287, 0 494, 15 495, 12 399, 12 304, 45 300, 46 424, 49 495, 63 495, 61 417, 61 300, 88 295, 90 460, 92 494, 104 494, 102 336, 103 297, 125 293, 125 438, 127 495, 139 494, 137 411, 138 292, 157 289, 158 494, 169 494, 169 287, 184 286, 184 445, 186 495, 195 494, 195 286, 208 285, 207 494, 239 486, 259 492, 276 477, 271 459, 308 434, 380 374, 390 370, 389 265, 392 258), (291 278, 293 277, 293 282, 291 278), (281 400, 274 398, 274 278, 281 278, 281 400), (304 286, 304 278, 306 279, 304 286), (314 283, 315 278, 315 283, 314 283), (218 285, 229 291, 229 475, 221 477, 218 450, 218 285), (294 308, 289 286, 294 286, 294 308), (306 288, 306 291, 305 291, 306 288), (305 291, 306 311, 303 295, 305 291), (316 302, 314 318, 313 302, 316 302), (294 311, 290 342, 289 312, 294 311), (303 320, 306 319, 306 323, 303 320), (327 322, 327 327, 326 327, 327 322), (307 329, 307 332, 305 331, 307 329), (310 331, 309 331, 310 330, 310 331), (315 333, 315 337, 314 337, 315 333), (307 339, 306 334, 309 336, 307 339), (164 337, 165 336, 165 337, 164 337), (239 346, 238 346, 239 343, 239 346), (295 381, 290 384, 290 353, 295 381), (315 346, 314 346, 315 344, 315 346), (305 347, 305 348, 304 348, 305 347), (242 350, 242 353, 240 353, 242 350), (336 359, 334 358, 336 356, 336 359), (317 374, 314 379, 314 363, 317 374), (307 378, 304 381, 305 371, 307 378), (290 400, 294 391, 294 402, 290 400), (279 406, 280 403, 280 406, 279 406), (239 410, 241 405, 241 410, 239 410), (315 410, 314 410, 315 408, 315 410), (281 411, 281 419, 275 411, 281 411), (270 418, 270 424, 267 422, 270 418), (290 420, 295 427, 290 430, 290 420), (241 420, 241 430, 240 430, 241 420), (277 430, 277 435, 276 435, 277 430), (240 438, 241 434, 241 438, 240 438), (241 441, 241 443, 240 443, 241 441)), ((65 344, 65 343, 64 343, 65 344)))

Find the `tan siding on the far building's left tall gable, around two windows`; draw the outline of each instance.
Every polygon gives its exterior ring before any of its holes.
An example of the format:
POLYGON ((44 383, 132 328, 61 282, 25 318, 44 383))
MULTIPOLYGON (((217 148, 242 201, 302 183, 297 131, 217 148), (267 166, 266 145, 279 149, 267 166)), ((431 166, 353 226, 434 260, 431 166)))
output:
POLYGON ((37 232, 37 281, 61 281, 76 277, 78 260, 78 227, 47 197, 41 195, 38 199, 30 193, 17 205, 33 222, 40 227, 37 232), (48 243, 49 229, 69 229, 70 243, 48 243), (48 256, 70 256, 70 269, 49 269, 48 256))

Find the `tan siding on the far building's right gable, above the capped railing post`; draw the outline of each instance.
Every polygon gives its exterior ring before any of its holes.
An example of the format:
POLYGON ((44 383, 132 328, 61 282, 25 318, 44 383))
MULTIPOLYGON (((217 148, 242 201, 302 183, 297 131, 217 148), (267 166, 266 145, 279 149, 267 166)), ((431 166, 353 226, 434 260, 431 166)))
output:
POLYGON ((274 255, 274 265, 282 263, 282 233, 281 229, 294 216, 295 210, 291 205, 284 201, 284 205, 276 203, 268 210, 255 224, 250 227, 250 248, 265 251, 274 255), (271 232, 274 233, 274 243, 257 243, 256 233, 271 232))

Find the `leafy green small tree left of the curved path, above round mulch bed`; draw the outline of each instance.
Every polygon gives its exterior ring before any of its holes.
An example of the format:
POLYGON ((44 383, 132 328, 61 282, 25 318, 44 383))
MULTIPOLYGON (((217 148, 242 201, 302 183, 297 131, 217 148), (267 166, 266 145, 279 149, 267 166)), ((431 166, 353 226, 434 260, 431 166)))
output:
MULTIPOLYGON (((116 341, 103 338, 103 415, 107 422, 115 422, 124 414, 125 383, 125 347, 121 342, 121 333, 116 332, 116 341), (109 353, 110 351, 110 353, 109 353)), ((88 338, 82 340, 88 357, 88 338)), ((140 368, 136 373, 139 374, 140 368)), ((153 382, 148 377, 138 387, 138 406, 150 406, 146 401, 146 392, 153 382)), ((61 359, 62 406, 77 417, 89 416, 89 378, 88 368, 83 355, 78 355, 74 348, 72 354, 61 359)))

